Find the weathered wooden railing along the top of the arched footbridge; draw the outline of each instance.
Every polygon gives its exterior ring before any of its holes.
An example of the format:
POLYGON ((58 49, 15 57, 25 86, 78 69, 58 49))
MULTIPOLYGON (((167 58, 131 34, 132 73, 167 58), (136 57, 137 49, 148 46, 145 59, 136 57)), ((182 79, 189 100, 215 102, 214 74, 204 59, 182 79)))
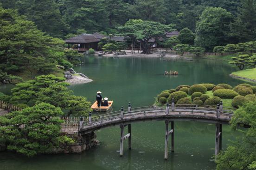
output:
MULTIPOLYGON (((210 105, 194 105, 194 104, 173 104, 173 106, 169 107, 169 110, 175 110, 175 111, 179 111, 179 110, 183 110, 184 111, 195 111, 195 110, 202 110, 202 111, 210 111, 211 113, 216 112, 216 110, 218 109, 218 106, 210 106, 210 105)), ((99 115, 96 117, 91 118, 89 116, 89 120, 87 121, 83 121, 83 126, 90 126, 92 124, 95 123, 101 123, 103 121, 114 121, 115 119, 120 119, 120 117, 122 116, 126 116, 126 115, 135 115, 135 114, 140 114, 140 113, 146 113, 148 111, 157 111, 157 110, 161 110, 166 111, 166 105, 153 105, 153 106, 144 106, 144 107, 137 107, 137 108, 132 108, 131 107, 128 109, 121 109, 115 112, 110 112, 110 113, 106 113, 103 115, 99 115)), ((221 110, 220 110, 220 114, 222 115, 226 115, 231 117, 233 115, 233 108, 229 108, 229 107, 223 107, 223 105, 221 106, 221 110)), ((217 112, 216 112, 217 114, 217 112)))

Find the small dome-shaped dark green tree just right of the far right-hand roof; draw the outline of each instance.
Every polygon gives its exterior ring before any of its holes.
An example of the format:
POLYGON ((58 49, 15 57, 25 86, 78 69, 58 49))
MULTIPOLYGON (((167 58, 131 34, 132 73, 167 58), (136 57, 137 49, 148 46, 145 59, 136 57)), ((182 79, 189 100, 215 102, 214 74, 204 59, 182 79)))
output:
POLYGON ((184 29, 179 31, 178 40, 182 44, 193 45, 194 44, 194 39, 195 39, 195 34, 191 30, 189 30, 188 28, 184 28, 184 29))

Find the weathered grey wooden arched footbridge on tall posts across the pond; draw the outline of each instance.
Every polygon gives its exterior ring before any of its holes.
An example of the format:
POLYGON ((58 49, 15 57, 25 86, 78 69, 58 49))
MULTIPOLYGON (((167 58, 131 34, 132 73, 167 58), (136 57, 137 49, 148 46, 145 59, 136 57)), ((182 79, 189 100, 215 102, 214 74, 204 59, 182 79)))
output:
POLYGON ((88 121, 79 122, 78 131, 81 134, 88 134, 97 129, 108 126, 120 125, 120 156, 123 155, 123 141, 128 139, 128 147, 131 149, 131 123, 136 121, 165 121, 165 159, 168 157, 168 142, 171 135, 171 151, 174 152, 174 121, 206 121, 216 124, 216 141, 215 155, 218 155, 222 149, 222 124, 229 123, 233 115, 234 109, 223 107, 222 102, 217 106, 205 105, 174 105, 174 102, 169 106, 147 106, 140 108, 131 108, 129 103, 128 109, 123 108, 120 111, 107 113, 104 115, 93 117, 91 113, 88 121), (169 130, 169 123, 171 129, 169 130), (124 128, 128 126, 128 134, 124 135, 124 128))

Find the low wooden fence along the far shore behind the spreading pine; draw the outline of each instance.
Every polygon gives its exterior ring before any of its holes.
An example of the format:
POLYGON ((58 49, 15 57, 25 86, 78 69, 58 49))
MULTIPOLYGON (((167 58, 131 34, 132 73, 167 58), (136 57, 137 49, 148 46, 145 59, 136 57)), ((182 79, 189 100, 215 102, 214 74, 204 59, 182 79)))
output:
MULTIPOLYGON (((181 55, 181 52, 179 51, 174 51, 172 49, 150 49, 151 53, 153 54, 170 54, 170 55, 181 55)), ((211 53, 211 52, 205 52, 204 55, 231 55, 234 53, 211 53)), ((193 53, 189 52, 189 51, 184 51, 183 55, 194 55, 193 53)))

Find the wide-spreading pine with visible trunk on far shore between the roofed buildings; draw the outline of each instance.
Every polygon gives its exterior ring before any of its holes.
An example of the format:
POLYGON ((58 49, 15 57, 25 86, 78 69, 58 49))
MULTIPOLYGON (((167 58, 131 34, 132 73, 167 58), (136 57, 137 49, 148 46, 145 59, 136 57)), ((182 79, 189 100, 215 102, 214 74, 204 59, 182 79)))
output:
POLYGON ((165 35, 166 31, 173 30, 173 24, 164 25, 153 21, 132 19, 119 30, 123 36, 128 36, 134 43, 140 42, 143 54, 150 54, 149 49, 154 43, 150 43, 149 40, 152 38, 158 40, 165 35))

